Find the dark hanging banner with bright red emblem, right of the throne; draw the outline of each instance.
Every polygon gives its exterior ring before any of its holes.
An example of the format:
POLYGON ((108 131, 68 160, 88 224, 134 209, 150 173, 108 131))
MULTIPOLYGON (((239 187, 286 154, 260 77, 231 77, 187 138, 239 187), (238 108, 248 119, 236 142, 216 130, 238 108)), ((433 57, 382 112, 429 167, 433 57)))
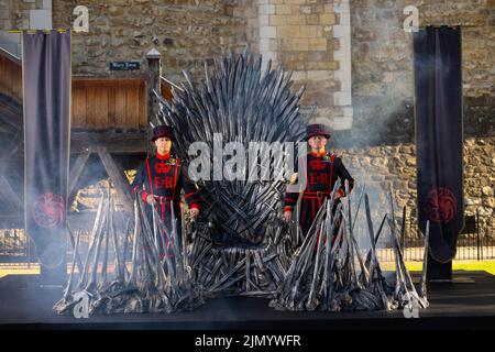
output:
POLYGON ((430 220, 430 255, 455 256, 463 227, 462 82, 460 28, 415 33, 418 221, 430 220))

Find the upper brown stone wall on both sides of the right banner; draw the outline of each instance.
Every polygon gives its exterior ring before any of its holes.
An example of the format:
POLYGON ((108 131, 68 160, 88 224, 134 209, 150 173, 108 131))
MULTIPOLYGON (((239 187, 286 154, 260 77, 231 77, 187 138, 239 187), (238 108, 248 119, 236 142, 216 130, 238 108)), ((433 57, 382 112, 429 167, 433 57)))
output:
POLYGON ((409 4, 418 8, 421 26, 462 24, 465 132, 469 136, 493 135, 494 1, 355 0, 351 9, 351 138, 370 144, 413 142, 413 35, 403 30, 403 11, 409 4))

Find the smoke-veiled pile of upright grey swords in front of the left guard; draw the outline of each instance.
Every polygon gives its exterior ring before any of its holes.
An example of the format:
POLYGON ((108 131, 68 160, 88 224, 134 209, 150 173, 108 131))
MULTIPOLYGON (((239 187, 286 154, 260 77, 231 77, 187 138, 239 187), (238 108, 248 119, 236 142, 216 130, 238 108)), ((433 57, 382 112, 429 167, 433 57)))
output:
POLYGON ((172 312, 201 305, 201 292, 190 285, 184 237, 177 233, 177 226, 168 233, 154 209, 150 223, 136 196, 134 229, 119 232, 113 208, 108 193, 98 208, 89 249, 79 265, 82 270, 76 271, 78 237, 64 296, 53 309, 66 314, 81 296, 89 297, 89 315, 172 312))

